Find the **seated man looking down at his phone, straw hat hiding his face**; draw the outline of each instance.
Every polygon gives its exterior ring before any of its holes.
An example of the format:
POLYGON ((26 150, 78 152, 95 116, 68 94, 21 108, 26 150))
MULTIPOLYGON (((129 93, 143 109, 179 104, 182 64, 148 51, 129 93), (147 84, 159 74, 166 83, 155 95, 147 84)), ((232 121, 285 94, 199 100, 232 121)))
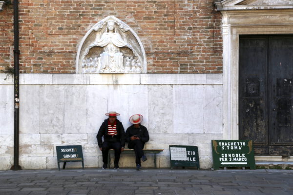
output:
POLYGON ((143 148, 145 143, 149 140, 148 132, 145 126, 140 123, 143 121, 142 115, 133 115, 129 118, 129 121, 133 124, 126 130, 126 142, 128 142, 128 148, 134 149, 135 152, 135 163, 136 170, 141 169, 141 158, 142 161, 146 161, 143 148))

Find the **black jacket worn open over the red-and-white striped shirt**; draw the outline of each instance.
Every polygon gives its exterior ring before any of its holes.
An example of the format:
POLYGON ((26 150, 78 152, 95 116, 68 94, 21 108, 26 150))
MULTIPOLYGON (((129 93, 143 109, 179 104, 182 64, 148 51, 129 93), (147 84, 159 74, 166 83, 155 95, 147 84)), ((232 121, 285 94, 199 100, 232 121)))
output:
POLYGON ((99 148, 102 148, 103 146, 103 141, 102 141, 103 136, 104 136, 104 141, 110 141, 110 142, 120 141, 122 147, 125 147, 125 131, 124 131, 124 127, 122 123, 118 119, 116 119, 117 135, 109 136, 108 135, 108 120, 109 119, 104 120, 97 134, 99 148))

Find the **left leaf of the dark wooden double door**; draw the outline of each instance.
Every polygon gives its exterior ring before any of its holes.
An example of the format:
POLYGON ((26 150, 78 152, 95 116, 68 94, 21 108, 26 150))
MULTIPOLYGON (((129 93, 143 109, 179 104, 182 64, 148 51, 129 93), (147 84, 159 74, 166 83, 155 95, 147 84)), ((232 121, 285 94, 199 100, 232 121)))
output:
POLYGON ((268 155, 267 38, 239 40, 239 139, 252 139, 255 154, 268 155))

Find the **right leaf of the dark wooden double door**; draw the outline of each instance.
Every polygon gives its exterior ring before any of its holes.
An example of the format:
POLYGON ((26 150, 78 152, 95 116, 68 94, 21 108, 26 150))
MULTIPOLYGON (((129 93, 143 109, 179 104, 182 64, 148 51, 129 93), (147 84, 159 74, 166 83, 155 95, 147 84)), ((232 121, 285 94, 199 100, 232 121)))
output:
MULTIPOLYGON (((269 122, 270 153, 286 155, 286 145, 293 145, 293 37, 270 37, 269 93, 271 116, 269 122), (284 146, 274 149, 274 145, 284 146), (278 152, 276 152, 278 151, 278 152), (283 152, 282 152, 283 151, 283 152)), ((290 147, 289 147, 290 148, 290 147)))

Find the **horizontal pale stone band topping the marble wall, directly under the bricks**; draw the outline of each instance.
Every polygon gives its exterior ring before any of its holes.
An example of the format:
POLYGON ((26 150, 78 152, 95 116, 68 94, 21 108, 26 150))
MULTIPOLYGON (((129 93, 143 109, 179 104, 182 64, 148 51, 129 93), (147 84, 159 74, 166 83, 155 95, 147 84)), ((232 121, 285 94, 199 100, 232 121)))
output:
MULTIPOLYGON (((0 74, 0 85, 12 85, 13 77, 6 80, 0 74)), ((223 74, 20 74, 25 85, 108 85, 108 84, 223 84, 223 74)))

